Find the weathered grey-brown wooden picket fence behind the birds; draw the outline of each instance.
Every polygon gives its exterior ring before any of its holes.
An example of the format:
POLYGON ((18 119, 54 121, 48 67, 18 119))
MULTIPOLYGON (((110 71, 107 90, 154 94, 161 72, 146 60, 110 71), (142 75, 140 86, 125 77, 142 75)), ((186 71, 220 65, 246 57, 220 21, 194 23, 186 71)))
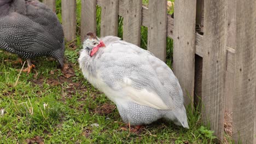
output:
MULTIPOLYGON (((232 139, 256 143, 256 1, 189 0, 175 2, 174 19, 166 0, 81 0, 81 37, 96 32, 96 5, 101 7, 101 36, 117 35, 140 45, 148 27, 148 50, 165 61, 166 37, 174 40, 173 69, 185 104, 202 99, 203 121, 219 140, 224 137, 224 110, 232 113, 232 139), (196 29, 196 26, 200 26, 196 29)), ((44 0, 55 10, 55 0, 44 0)), ((62 0, 67 40, 75 39, 75 0, 62 0)))

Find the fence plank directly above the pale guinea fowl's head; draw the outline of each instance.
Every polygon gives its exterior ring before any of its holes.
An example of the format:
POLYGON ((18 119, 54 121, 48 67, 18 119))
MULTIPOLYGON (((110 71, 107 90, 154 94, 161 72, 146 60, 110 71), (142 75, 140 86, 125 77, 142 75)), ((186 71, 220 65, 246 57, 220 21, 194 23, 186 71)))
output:
POLYGON ((96 0, 82 0, 81 5, 81 40, 88 32, 96 33, 96 0))

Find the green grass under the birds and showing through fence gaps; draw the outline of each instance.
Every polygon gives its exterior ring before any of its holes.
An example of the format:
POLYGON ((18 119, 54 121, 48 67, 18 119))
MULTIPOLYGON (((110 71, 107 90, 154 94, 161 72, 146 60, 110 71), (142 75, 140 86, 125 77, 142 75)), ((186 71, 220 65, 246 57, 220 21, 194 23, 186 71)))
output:
MULTIPOLYGON (((77 2, 79 8, 80 1, 77 2)), ((57 11, 60 17, 59 0, 57 11)), ((79 23, 78 19, 78 34, 79 23)), ((97 23, 99 30, 100 8, 97 8, 97 23)), ((121 25, 119 17, 120 37, 121 25)), ((141 44, 147 49, 146 27, 142 27, 141 44)), ((33 61, 36 69, 28 75, 21 73, 16 86, 19 75, 16 69, 22 66, 4 62, 17 56, 0 50, 0 109, 5 111, 4 115, 0 113, 0 143, 25 143, 36 136, 45 143, 214 143, 213 131, 201 124, 199 105, 195 110, 187 109, 189 130, 161 120, 130 135, 128 130, 121 130, 125 123, 114 104, 92 87, 79 70, 79 36, 73 45, 76 49, 68 45, 65 72, 49 58, 36 58, 33 61)), ((167 63, 171 65, 171 39, 167 39, 167 53, 167 63)))

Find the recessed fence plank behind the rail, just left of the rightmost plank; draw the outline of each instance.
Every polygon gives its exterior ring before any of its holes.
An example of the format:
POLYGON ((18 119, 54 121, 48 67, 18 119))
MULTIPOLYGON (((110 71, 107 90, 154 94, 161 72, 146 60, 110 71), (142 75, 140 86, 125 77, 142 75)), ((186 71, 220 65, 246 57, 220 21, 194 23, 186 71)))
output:
MULTIPOLYGON (((226 46, 231 47, 232 49, 236 49, 236 1, 227 0, 225 1, 226 7, 226 17, 225 17, 225 27, 226 27, 226 46)), ((228 53, 227 53, 227 56, 228 53)), ((227 58, 228 59, 228 58, 227 58)), ((234 71, 226 71, 225 76, 225 110, 229 113, 232 112, 232 99, 234 97, 234 85, 235 85, 235 75, 234 71)))

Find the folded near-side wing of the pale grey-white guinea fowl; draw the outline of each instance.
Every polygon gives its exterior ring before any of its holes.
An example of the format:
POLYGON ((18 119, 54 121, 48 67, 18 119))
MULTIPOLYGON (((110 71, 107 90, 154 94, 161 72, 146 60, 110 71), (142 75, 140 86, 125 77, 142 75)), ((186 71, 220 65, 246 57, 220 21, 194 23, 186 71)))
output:
POLYGON ((119 48, 115 52, 108 50, 113 50, 114 47, 106 47, 105 50, 110 52, 104 50, 100 62, 97 63, 101 79, 113 91, 121 92, 124 99, 159 110, 172 110, 173 101, 162 87, 151 64, 133 53, 135 51, 132 49, 125 51, 119 48))

